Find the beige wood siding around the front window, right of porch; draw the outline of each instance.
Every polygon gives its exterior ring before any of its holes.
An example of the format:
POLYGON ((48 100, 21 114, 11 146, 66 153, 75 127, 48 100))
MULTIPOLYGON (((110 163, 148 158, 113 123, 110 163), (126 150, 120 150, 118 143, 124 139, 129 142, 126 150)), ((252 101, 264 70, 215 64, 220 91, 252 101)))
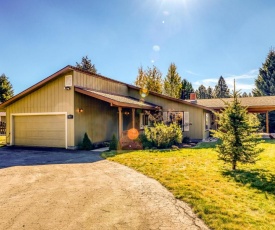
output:
MULTIPOLYGON (((139 91, 129 88, 129 95, 137 99, 141 98, 139 91)), ((204 130, 204 110, 191 105, 186 105, 180 102, 171 101, 162 97, 158 97, 149 94, 145 98, 146 102, 153 103, 162 107, 163 112, 167 111, 184 111, 189 112, 189 122, 192 123, 189 127, 189 131, 184 132, 184 136, 188 136, 191 139, 203 139, 205 137, 204 130)))

